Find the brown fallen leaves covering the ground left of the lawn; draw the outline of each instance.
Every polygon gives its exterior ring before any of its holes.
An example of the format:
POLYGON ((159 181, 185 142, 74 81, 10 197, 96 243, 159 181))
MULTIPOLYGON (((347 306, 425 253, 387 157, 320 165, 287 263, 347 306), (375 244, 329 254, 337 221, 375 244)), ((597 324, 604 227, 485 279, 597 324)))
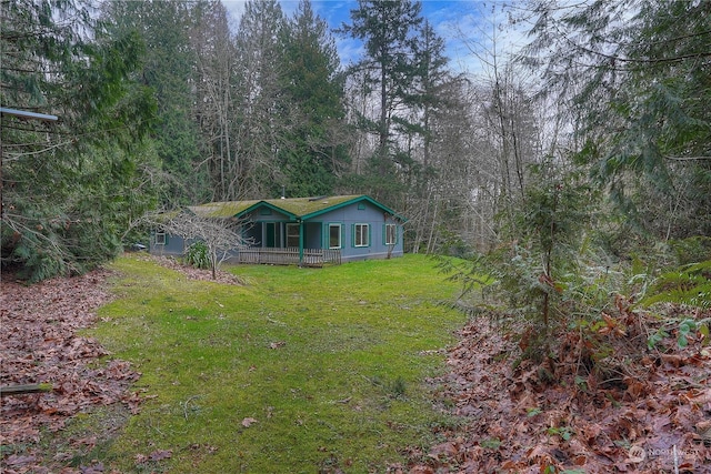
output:
MULTIPOLYGON (((140 373, 129 362, 110 359, 96 340, 78 334, 96 322, 97 309, 110 301, 106 290, 110 275, 108 270, 97 270, 27 285, 2 274, 0 385, 46 383, 51 391, 1 399, 1 472, 49 472, 43 466, 71 460, 74 454, 50 453, 40 441, 46 433, 63 430, 79 413, 116 404, 139 412, 143 397, 130 386, 140 373), (104 362, 104 357, 109 359, 104 362)), ((97 440, 90 436, 70 444, 80 451, 93 447, 97 440)), ((103 466, 94 463, 61 472, 103 472, 103 466)))

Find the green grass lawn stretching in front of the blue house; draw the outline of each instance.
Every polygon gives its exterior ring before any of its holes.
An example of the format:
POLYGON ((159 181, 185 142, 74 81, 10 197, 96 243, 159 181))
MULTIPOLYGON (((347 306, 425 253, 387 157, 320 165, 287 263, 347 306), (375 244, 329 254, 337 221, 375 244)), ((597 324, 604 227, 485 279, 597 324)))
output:
POLYGON ((236 266, 244 286, 126 256, 92 331, 150 397, 101 460, 122 472, 383 472, 447 418, 427 379, 464 316, 424 256, 236 266), (242 425, 244 418, 257 423, 242 425), (137 464, 138 454, 172 457, 137 464))

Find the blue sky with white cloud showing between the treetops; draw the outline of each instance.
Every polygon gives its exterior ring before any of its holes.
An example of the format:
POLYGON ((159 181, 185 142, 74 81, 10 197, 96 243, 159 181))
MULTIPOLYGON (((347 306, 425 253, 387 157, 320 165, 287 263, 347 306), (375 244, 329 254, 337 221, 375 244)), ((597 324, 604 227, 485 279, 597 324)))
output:
MULTIPOLYGON (((222 0, 234 18, 243 11, 246 0, 222 0)), ((513 0, 515 2, 515 0, 513 0)), ((299 1, 281 0, 287 16, 293 14, 299 1)), ((357 0, 312 0, 314 11, 331 28, 350 23, 350 11, 358 8, 357 0)), ((507 13, 502 0, 423 0, 422 14, 447 42, 450 65, 457 72, 485 74, 482 61, 494 48, 505 54, 523 44, 521 32, 505 28, 507 13)), ((351 39, 334 34, 341 62, 348 64, 360 57, 361 46, 351 39)))

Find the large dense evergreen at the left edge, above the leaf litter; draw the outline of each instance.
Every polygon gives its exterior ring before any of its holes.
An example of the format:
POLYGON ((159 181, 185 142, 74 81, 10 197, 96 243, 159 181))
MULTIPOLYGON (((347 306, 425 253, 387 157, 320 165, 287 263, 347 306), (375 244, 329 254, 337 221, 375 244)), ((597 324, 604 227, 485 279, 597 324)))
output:
POLYGON ((2 264, 31 280, 83 272, 152 204, 154 102, 131 79, 142 43, 109 37, 82 1, 2 2, 0 16, 0 104, 59 117, 2 115, 2 264))

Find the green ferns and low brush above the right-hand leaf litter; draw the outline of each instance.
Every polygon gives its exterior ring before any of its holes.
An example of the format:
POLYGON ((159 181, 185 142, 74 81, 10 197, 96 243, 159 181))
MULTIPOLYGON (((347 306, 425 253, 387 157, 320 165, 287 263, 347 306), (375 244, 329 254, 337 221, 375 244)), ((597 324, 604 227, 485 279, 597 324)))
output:
POLYGON ((567 262, 570 271, 559 271, 554 280, 520 242, 468 264, 441 261, 440 268, 462 289, 458 309, 487 317, 517 341, 518 351, 510 354, 514 370, 541 364, 538 380, 544 383, 574 384, 580 377, 591 383, 592 376, 627 386, 641 376, 637 371, 647 371, 642 361, 650 352, 684 349, 692 341, 709 344, 711 260, 674 266, 691 258, 690 248, 699 248, 698 239, 657 245, 645 258, 611 265, 584 242, 574 262, 567 262), (493 270, 482 278, 485 268, 493 270), (537 293, 554 302, 548 327, 541 306, 530 304, 537 293))

